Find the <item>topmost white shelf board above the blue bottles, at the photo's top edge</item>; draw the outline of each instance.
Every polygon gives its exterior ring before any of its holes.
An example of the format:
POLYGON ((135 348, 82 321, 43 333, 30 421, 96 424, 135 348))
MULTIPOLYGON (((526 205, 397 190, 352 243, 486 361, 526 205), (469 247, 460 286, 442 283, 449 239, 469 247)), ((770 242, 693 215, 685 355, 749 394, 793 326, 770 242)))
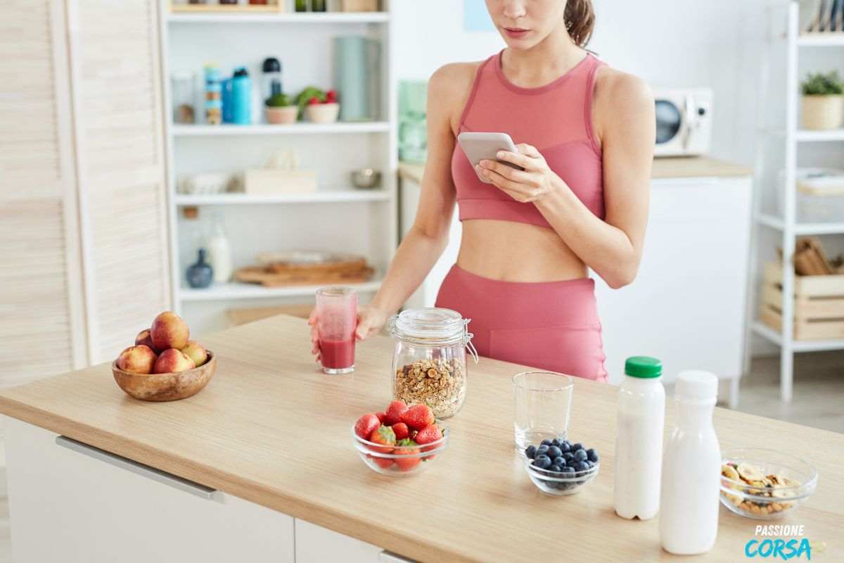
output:
POLYGON ((390 20, 387 12, 326 12, 296 14, 277 10, 247 12, 191 11, 168 14, 170 24, 383 24, 390 20))

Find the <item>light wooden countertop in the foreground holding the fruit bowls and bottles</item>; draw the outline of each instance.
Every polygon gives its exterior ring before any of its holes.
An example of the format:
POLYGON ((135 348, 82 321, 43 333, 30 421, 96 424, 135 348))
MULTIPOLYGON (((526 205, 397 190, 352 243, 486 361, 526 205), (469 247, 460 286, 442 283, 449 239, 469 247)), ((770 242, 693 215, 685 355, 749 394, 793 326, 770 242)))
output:
MULTIPOLYGON (((293 317, 201 340, 219 366, 195 397, 136 401, 103 364, 5 389, 0 411, 414 560, 567 560, 574 549, 591 562, 688 561, 660 549, 658 519, 614 516, 615 387, 576 382, 570 436, 598 449, 601 472, 581 493, 551 497, 527 479, 513 449, 517 365, 472 365, 467 402, 448 421, 448 451, 424 473, 395 479, 366 468, 349 434, 360 414, 391 398, 390 339, 360 344, 352 376, 317 371, 305 321, 293 317)), ((725 409, 716 428, 724 448, 772 447, 815 464, 817 492, 777 523, 803 524, 810 540, 825 542, 813 560, 841 560, 844 435, 725 409)), ((744 560, 760 523, 722 508, 715 548, 695 561, 744 560)))

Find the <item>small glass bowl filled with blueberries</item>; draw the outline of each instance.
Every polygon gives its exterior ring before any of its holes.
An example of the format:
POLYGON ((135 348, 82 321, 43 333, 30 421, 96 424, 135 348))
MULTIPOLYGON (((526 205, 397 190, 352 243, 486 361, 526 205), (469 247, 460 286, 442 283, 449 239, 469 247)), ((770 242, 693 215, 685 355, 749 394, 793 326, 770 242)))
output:
POLYGON ((524 451, 527 476, 546 495, 574 495, 595 476, 598 452, 581 443, 555 438, 524 451))

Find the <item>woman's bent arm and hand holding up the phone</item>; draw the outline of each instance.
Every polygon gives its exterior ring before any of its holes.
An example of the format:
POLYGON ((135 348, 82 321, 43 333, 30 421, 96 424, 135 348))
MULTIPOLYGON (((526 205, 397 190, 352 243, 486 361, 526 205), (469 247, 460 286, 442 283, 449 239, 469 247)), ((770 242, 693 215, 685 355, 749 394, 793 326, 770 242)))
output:
POLYGON ((607 68, 598 75, 593 109, 606 219, 592 214, 530 145, 498 155, 525 171, 490 160, 480 171, 517 201, 533 202, 571 251, 617 289, 636 278, 641 261, 656 137, 653 95, 639 78, 607 68))

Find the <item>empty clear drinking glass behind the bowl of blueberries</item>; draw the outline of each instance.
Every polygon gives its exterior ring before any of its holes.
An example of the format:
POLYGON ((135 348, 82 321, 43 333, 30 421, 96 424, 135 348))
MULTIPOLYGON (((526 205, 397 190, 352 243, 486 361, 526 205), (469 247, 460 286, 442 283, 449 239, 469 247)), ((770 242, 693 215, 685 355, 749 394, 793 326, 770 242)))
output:
POLYGON ((553 371, 524 371, 513 376, 514 427, 520 453, 545 439, 566 437, 573 388, 571 377, 553 371))

